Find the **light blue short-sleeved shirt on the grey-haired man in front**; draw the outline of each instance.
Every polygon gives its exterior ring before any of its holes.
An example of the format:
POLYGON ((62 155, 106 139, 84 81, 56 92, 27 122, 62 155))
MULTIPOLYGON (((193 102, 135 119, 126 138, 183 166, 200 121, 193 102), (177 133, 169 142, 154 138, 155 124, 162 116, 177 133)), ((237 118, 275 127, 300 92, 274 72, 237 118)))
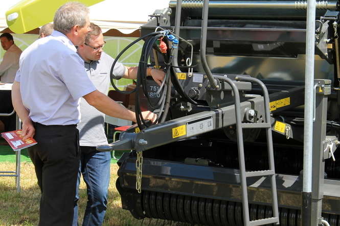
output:
POLYGON ((22 103, 32 121, 44 125, 80 121, 79 99, 96 87, 76 51, 69 38, 54 31, 22 52, 15 81, 20 82, 22 103))

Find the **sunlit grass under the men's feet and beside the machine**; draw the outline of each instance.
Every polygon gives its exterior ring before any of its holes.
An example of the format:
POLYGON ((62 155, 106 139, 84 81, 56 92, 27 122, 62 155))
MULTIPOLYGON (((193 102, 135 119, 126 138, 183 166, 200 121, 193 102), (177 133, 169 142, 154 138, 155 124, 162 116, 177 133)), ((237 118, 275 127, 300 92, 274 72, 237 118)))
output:
MULTIPOLYGON (((21 163, 21 192, 15 189, 15 179, 0 177, 0 225, 25 225, 33 226, 39 222, 39 200, 40 189, 34 173, 34 166, 31 162, 21 163)), ((15 163, 0 162, 0 168, 15 169, 15 163)), ((108 204, 103 226, 111 225, 178 225, 174 222, 144 219, 137 220, 132 217, 129 211, 123 210, 121 197, 116 189, 117 164, 111 164, 111 178, 108 189, 108 204)), ((81 225, 86 206, 86 185, 81 180, 79 206, 79 225, 81 225)), ((179 224, 188 225, 188 224, 179 224)))

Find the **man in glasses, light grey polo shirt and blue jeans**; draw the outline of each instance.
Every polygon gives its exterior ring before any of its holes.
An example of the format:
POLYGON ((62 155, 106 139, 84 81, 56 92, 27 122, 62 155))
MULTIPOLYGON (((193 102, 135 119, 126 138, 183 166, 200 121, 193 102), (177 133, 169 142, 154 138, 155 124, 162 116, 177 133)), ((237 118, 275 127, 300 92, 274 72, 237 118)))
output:
MULTIPOLYGON (((85 42, 78 46, 78 54, 84 60, 88 78, 96 88, 107 94, 110 83, 110 69, 114 59, 103 52, 105 45, 102 30, 90 23, 90 32, 85 42)), ((113 74, 115 79, 137 78, 138 67, 126 67, 117 62, 113 74)), ((149 76, 160 85, 165 73, 163 70, 150 69, 149 76)), ((90 106, 84 98, 80 99, 81 121, 78 123, 80 141, 80 167, 78 173, 77 195, 75 199, 75 216, 73 225, 78 225, 78 189, 80 173, 87 187, 87 204, 83 225, 102 225, 107 204, 107 190, 110 179, 111 155, 98 152, 96 146, 108 144, 104 132, 104 114, 90 106)))

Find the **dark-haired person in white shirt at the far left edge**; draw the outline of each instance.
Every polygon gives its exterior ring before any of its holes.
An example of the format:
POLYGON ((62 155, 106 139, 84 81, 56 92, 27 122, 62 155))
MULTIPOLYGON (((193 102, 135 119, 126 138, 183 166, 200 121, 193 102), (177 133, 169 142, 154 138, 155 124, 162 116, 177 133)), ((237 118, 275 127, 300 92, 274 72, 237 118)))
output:
POLYGON ((15 73, 19 68, 21 49, 14 44, 13 36, 9 33, 0 35, 1 46, 6 51, 3 61, 0 63, 0 81, 13 83, 15 73))

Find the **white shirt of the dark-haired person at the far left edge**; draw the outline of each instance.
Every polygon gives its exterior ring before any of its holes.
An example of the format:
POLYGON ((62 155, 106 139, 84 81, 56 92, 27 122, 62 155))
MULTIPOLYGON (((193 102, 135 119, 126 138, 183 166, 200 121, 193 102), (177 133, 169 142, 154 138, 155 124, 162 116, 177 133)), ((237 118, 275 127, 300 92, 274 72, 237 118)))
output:
POLYGON ((21 49, 15 44, 11 45, 4 54, 3 61, 0 63, 0 81, 3 83, 13 83, 15 73, 19 69, 19 58, 21 49))

